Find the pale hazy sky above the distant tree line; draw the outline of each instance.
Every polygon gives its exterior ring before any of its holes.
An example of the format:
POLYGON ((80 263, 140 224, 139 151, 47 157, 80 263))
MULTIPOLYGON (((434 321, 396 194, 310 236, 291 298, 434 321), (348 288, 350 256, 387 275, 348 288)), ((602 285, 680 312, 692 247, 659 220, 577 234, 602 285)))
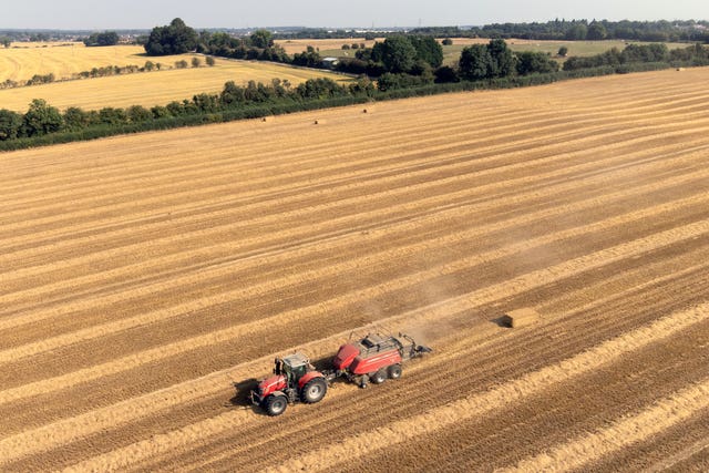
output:
POLYGON ((8 0, 0 29, 386 28, 587 20, 709 20, 707 0, 8 0))

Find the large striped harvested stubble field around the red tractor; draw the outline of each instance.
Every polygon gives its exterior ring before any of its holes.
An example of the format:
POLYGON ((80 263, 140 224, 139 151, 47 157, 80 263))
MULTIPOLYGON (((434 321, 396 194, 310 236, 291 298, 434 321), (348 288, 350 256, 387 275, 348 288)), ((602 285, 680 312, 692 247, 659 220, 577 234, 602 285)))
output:
POLYGON ((0 154, 0 470, 707 470, 707 84, 0 154), (232 385, 369 323, 435 351, 277 419, 232 385))

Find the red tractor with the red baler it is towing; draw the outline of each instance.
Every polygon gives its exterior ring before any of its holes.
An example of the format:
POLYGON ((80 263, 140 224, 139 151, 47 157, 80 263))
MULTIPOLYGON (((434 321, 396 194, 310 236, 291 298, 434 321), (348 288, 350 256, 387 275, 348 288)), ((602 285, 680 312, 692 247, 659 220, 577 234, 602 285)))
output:
POLYGON ((367 388, 369 380, 381 384, 387 378, 399 379, 403 361, 430 351, 402 333, 399 337, 368 333, 340 347, 332 360, 333 370, 317 371, 302 353, 277 358, 274 376, 251 391, 251 402, 264 408, 268 415, 280 415, 289 403, 319 402, 327 393, 328 383, 340 377, 361 388, 367 388))

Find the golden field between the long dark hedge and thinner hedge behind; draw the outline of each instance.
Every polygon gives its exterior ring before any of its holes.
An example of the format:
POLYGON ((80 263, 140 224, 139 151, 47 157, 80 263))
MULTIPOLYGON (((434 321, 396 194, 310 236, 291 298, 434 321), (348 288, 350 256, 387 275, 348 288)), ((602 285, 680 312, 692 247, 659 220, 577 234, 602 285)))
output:
MULTIPOLYGON (((187 62, 191 59, 188 55, 179 58, 187 62)), ((297 85, 308 79, 322 76, 342 82, 351 80, 327 71, 291 68, 273 62, 217 59, 213 68, 175 69, 0 90, 0 104, 18 112, 27 111, 32 99, 44 99, 61 110, 69 106, 84 110, 153 106, 192 99, 202 92, 220 92, 227 81, 242 85, 249 80, 270 83, 278 78, 297 85)))

